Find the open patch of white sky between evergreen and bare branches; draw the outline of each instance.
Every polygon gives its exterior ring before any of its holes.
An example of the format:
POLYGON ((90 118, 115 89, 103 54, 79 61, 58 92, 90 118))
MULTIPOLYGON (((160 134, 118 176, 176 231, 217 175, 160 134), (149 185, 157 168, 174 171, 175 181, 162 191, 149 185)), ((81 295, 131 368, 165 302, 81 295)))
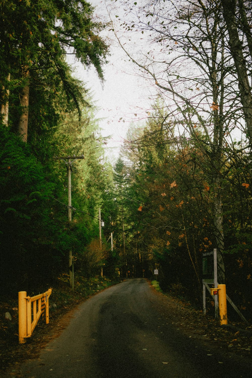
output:
MULTIPOLYGON (((97 6, 95 14, 107 17, 105 1, 90 0, 97 6)), ((113 37, 113 33, 105 30, 102 36, 113 37)), ((108 43, 108 42, 107 42, 108 43)), ((146 113, 150 110, 153 100, 149 83, 134 73, 133 63, 128 61, 124 51, 110 41, 110 54, 108 64, 104 65, 105 82, 102 86, 94 68, 85 70, 81 64, 74 64, 74 75, 87 83, 100 109, 97 118, 101 118, 99 125, 102 136, 111 135, 111 139, 105 147, 106 155, 113 163, 119 155, 120 146, 126 137, 131 122, 144 124, 146 113), (135 116, 137 114, 137 116, 135 116), (121 121, 119 119, 122 117, 121 121), (143 121, 139 121, 143 119, 143 121), (123 120, 125 122, 123 122, 123 120)))

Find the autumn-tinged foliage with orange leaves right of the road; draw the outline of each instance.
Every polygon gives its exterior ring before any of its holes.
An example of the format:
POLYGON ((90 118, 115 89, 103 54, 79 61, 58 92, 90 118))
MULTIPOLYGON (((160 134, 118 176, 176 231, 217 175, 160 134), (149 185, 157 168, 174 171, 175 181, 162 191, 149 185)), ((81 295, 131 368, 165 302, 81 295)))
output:
POLYGON ((240 310, 246 308, 249 317, 251 156, 229 145, 218 163, 221 180, 217 186, 216 170, 208 158, 211 151, 207 144, 202 147, 204 130, 198 129, 198 140, 174 138, 172 125, 164 125, 166 115, 157 113, 153 111, 141 132, 133 130, 134 137, 128 135, 124 145, 127 270, 151 278, 156 266, 163 290, 178 285, 187 296, 193 293, 190 300, 201 303, 203 253, 218 248, 219 196, 226 285, 230 297, 240 310))

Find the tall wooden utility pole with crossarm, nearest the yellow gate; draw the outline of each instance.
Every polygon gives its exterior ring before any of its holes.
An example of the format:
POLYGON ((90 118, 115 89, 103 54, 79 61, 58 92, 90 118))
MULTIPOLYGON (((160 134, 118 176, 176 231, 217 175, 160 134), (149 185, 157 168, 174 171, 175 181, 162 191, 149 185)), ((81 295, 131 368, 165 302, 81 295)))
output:
MULTIPOLYGON (((68 222, 72 222, 72 202, 71 202, 71 172, 72 172, 72 163, 76 159, 84 159, 84 155, 81 156, 66 156, 58 158, 57 156, 54 158, 54 160, 63 160, 66 164, 66 170, 68 173, 68 222)), ((74 290, 74 265, 73 265, 73 256, 72 256, 72 250, 69 251, 69 282, 70 286, 72 287, 72 290, 74 290)))

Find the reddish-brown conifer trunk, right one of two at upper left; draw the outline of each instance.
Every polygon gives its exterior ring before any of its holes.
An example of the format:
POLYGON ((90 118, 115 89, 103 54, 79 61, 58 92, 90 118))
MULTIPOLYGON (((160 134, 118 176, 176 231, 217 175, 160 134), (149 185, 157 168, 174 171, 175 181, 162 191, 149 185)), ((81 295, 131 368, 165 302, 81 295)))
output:
POLYGON ((27 143, 27 133, 28 133, 28 109, 29 109, 29 84, 30 84, 30 73, 28 66, 23 67, 22 72, 23 79, 26 80, 26 85, 20 92, 20 104, 22 107, 22 113, 19 119, 19 135, 23 142, 27 143))

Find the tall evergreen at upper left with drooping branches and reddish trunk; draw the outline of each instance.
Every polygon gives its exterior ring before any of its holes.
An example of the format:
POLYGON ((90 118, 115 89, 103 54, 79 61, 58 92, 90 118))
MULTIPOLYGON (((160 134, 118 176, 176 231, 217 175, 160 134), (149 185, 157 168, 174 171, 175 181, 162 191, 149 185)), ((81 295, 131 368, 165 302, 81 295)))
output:
POLYGON ((94 8, 85 1, 39 0, 31 3, 2 0, 0 10, 3 17, 0 31, 1 108, 6 109, 7 90, 15 87, 21 104, 15 121, 22 140, 26 142, 30 88, 39 84, 57 92, 61 85, 66 98, 74 102, 80 116, 82 90, 69 73, 65 54, 75 54, 87 67, 94 65, 98 76, 103 79, 101 66, 105 62, 107 46, 98 35, 103 26, 93 19, 94 8), (44 81, 40 72, 45 69, 51 71, 51 75, 44 76, 44 81))

